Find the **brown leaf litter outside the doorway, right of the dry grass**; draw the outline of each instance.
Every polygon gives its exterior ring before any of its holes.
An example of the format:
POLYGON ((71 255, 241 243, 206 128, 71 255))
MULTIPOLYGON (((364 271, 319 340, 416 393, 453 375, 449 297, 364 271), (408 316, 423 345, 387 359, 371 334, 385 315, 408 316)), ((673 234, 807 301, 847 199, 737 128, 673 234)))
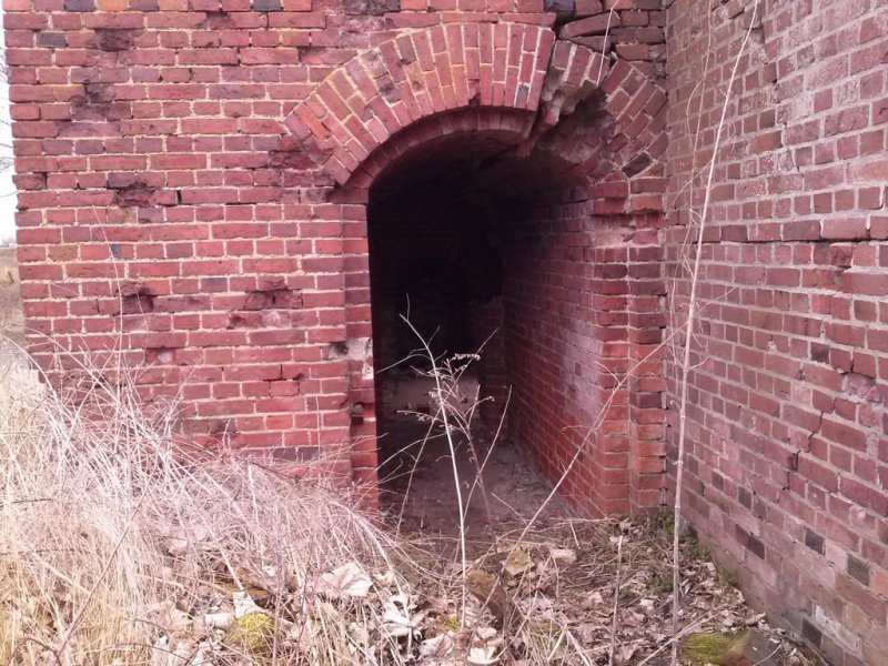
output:
MULTIPOLYGON (((524 527, 500 525, 488 539, 476 538, 472 543, 470 617, 475 626, 495 632, 486 634, 484 640, 475 632, 472 639, 472 647, 496 647, 485 657, 495 660, 484 663, 608 664, 619 535, 623 547, 614 663, 668 663, 668 649, 664 648, 672 630, 670 534, 656 519, 549 518, 517 543, 524 527), (473 586, 472 577, 477 572, 486 574, 486 587, 473 586), (500 583, 497 589, 511 601, 517 620, 503 617, 494 608, 492 581, 500 583)), ((430 538, 427 545, 434 541, 430 538)), ((696 539, 686 537, 682 549, 680 626, 686 634, 755 629, 773 653, 770 660, 763 664, 819 663, 783 630, 770 627, 764 613, 750 609, 730 584, 730 572, 719 569, 696 539)), ((441 583, 437 592, 426 593, 430 599, 435 594, 437 598, 430 602, 433 610, 423 635, 426 640, 441 640, 440 636, 446 635, 455 654, 461 645, 460 633, 442 628, 446 623, 441 622, 447 609, 455 613, 458 604, 460 582, 451 583, 452 587, 441 583)), ((462 662, 456 654, 416 663, 444 666, 462 662)))

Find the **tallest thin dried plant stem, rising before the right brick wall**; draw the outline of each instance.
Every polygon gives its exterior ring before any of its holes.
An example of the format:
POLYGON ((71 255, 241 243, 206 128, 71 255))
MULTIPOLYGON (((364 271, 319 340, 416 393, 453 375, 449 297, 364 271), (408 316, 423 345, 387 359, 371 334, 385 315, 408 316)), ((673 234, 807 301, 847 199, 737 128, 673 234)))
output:
POLYGON ((728 105, 730 103, 730 93, 734 88, 734 81, 737 78, 737 69, 740 64, 740 59, 746 44, 749 41, 749 36, 753 32, 753 26, 756 23, 758 13, 758 0, 753 6, 753 18, 749 21, 749 28, 746 30, 740 50, 734 59, 734 67, 730 71, 730 79, 728 79, 727 90, 725 91, 725 101, 722 104, 722 117, 718 121, 718 128, 715 133, 715 141, 713 143, 713 155, 709 160, 709 172, 706 178, 706 190, 703 201, 703 209, 700 210, 699 224, 697 229, 697 240, 695 243, 694 268, 690 272, 690 293, 688 294, 687 319, 684 324, 684 352, 680 369, 680 396, 678 401, 678 452, 676 454, 675 463, 675 505, 674 505, 674 525, 673 525, 673 646, 670 664, 676 666, 678 664, 678 609, 680 605, 680 562, 679 562, 679 542, 682 534, 682 490, 684 482, 685 470, 685 446, 687 437, 687 390, 688 390, 688 375, 690 373, 690 344, 694 339, 694 324, 697 314, 697 284, 699 281, 700 272, 700 258, 703 255, 703 238, 706 231, 706 220, 709 216, 709 203, 713 194, 713 180, 715 175, 716 157, 722 145, 722 133, 725 128, 725 119, 727 118, 728 105))

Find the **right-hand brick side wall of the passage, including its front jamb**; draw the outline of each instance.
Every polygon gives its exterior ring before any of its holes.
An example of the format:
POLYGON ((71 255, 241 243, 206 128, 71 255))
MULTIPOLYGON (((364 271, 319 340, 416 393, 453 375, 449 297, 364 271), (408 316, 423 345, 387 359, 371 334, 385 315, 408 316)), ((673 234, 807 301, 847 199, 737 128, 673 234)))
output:
POLYGON ((663 325, 659 248, 644 244, 659 216, 595 208, 573 201, 509 225, 509 418, 548 475, 565 475, 563 495, 629 513, 663 500, 662 387, 648 384, 659 363, 642 361, 663 325), (648 299, 655 315, 639 322, 648 299))

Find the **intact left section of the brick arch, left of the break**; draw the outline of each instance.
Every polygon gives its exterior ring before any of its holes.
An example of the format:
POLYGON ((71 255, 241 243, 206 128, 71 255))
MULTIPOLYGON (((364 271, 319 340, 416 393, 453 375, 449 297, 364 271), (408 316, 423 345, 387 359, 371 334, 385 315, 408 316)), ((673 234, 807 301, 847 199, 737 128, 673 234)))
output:
POLYGON ((286 119, 337 184, 391 137, 458 109, 536 112, 555 33, 527 23, 405 31, 332 72, 286 119))

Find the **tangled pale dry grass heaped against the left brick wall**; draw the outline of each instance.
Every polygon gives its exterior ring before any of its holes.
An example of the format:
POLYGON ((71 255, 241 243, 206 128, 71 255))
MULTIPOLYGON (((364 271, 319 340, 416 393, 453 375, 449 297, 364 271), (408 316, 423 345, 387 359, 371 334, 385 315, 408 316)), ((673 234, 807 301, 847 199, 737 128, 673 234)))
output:
POLYGON ((340 494, 174 451, 125 383, 65 404, 7 361, 0 663, 402 662, 392 544, 340 494))

